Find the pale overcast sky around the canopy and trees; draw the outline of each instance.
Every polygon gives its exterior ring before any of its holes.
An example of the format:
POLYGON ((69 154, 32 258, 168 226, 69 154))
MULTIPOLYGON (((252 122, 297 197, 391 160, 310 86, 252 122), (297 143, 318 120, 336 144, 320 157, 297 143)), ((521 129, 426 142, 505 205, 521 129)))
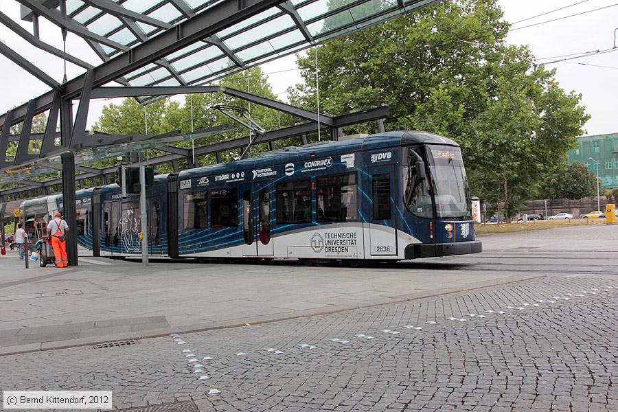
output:
MULTIPOLYGON (((573 7, 564 8, 535 19, 513 25, 508 36, 512 44, 529 45, 538 62, 551 62, 572 54, 581 54, 595 50, 610 50, 614 47, 614 31, 618 28, 618 4, 614 0, 499 0, 505 19, 511 23, 527 19, 551 10, 556 10, 574 3, 573 7), (597 10, 560 19, 571 14, 597 10), (550 23, 524 27, 535 23, 560 19, 550 23), (519 30, 518 27, 520 28, 519 30), (559 56, 553 58, 553 56, 559 56)), ((1 11, 15 21, 19 21, 19 3, 14 0, 1 0, 1 11)), ((32 32, 32 23, 25 21, 23 27, 32 32)), ((41 38, 49 44, 62 49, 60 29, 41 19, 41 38)), ((0 41, 18 51, 39 68, 45 70, 58 82, 62 80, 62 59, 51 56, 27 43, 21 37, 0 25, 0 41)), ((100 59, 91 51, 81 38, 69 33, 67 52, 98 65, 100 59)), ((556 62, 547 67, 557 69, 556 77, 566 91, 574 90, 582 94, 582 104, 586 112, 592 115, 586 124, 588 135, 617 133, 615 98, 618 95, 618 49, 604 54, 556 62)), ((0 113, 12 106, 45 93, 49 88, 13 62, 0 56, 0 113)), ((295 64, 295 57, 288 56, 262 66, 265 73, 271 73, 269 81, 279 98, 286 99, 287 87, 301 81, 295 64)), ((83 69, 68 64, 67 76, 70 78, 82 73, 83 69)), ((328 91, 321 90, 321 93, 328 91)), ((98 100, 91 103, 88 126, 96 122, 104 104, 110 100, 98 100)))

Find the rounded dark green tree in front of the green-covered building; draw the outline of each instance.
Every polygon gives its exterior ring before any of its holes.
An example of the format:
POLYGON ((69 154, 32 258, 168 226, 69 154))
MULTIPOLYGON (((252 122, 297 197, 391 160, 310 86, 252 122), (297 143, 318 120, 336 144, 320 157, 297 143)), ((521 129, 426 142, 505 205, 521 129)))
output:
POLYGON ((580 199, 594 196, 596 192, 595 174, 588 172, 586 166, 575 161, 569 167, 547 175, 541 183, 539 194, 549 199, 580 199))

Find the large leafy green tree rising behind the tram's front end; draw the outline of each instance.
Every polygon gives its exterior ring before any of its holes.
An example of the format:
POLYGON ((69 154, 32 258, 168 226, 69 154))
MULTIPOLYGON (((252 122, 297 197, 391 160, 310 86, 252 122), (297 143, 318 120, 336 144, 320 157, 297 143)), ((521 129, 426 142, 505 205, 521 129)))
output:
MULTIPOLYGON (((318 48, 320 109, 345 113, 387 103, 387 130, 455 139, 473 194, 514 216, 542 176, 564 163, 588 119, 580 95, 554 71, 507 45, 496 0, 452 0, 318 48)), ((290 100, 316 107, 314 51, 297 58, 304 84, 290 100)), ((374 124, 347 133, 376 131, 374 124)))

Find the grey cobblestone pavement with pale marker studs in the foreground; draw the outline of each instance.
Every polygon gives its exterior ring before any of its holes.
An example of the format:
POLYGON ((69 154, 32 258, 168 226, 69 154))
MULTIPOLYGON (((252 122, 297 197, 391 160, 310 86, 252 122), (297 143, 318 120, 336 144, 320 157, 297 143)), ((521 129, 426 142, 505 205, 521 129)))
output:
POLYGON ((117 409, 194 400, 201 411, 618 411, 617 304, 615 277, 546 277, 125 347, 2 356, 0 389, 113 389, 117 409))

